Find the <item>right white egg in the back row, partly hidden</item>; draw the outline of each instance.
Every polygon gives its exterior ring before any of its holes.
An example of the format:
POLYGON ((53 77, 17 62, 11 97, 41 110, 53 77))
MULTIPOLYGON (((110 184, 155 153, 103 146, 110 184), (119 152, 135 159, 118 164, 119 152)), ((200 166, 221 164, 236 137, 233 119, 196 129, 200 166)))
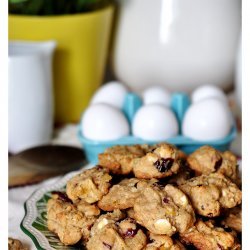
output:
POLYGON ((192 103, 197 103, 208 98, 218 98, 221 101, 227 103, 227 97, 225 93, 222 91, 222 89, 214 85, 203 85, 198 87, 191 95, 192 103))

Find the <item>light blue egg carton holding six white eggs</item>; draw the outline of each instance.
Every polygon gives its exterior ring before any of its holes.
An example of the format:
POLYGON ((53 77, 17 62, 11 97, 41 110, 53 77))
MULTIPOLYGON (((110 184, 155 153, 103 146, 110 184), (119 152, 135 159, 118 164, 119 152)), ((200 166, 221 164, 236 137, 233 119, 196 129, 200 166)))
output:
MULTIPOLYGON (((135 93, 128 93, 125 97, 122 112, 127 117, 127 120, 132 127, 132 121, 137 110, 143 105, 142 99, 135 93)), ((171 96, 171 109, 175 113, 178 124, 179 133, 178 136, 174 136, 165 141, 148 141, 135 137, 131 134, 129 136, 122 137, 112 141, 95 141, 87 139, 81 132, 81 126, 78 127, 78 138, 83 146, 84 153, 87 160, 92 164, 98 163, 98 154, 103 153, 106 148, 115 145, 134 145, 134 144, 157 144, 160 142, 167 142, 176 145, 180 150, 187 154, 192 153, 197 148, 203 145, 210 145, 220 151, 228 150, 231 142, 235 139, 237 134, 236 125, 234 124, 229 135, 225 138, 216 141, 197 141, 182 135, 181 124, 187 108, 190 105, 190 98, 187 94, 176 92, 171 96)))

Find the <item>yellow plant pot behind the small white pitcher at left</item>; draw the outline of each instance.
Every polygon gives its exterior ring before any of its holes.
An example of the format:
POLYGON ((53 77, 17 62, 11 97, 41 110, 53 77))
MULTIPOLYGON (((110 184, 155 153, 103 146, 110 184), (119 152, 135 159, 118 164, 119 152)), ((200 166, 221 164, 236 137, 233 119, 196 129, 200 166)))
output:
POLYGON ((55 121, 78 122, 101 85, 107 62, 114 6, 71 15, 9 15, 10 40, 51 40, 54 58, 55 121))

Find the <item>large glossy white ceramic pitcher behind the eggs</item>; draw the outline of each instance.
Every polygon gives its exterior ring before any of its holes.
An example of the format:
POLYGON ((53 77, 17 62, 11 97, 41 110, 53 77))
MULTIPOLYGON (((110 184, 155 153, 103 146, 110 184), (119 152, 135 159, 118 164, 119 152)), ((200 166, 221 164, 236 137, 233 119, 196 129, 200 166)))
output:
POLYGON ((117 0, 115 76, 134 91, 234 81, 241 0, 117 0))

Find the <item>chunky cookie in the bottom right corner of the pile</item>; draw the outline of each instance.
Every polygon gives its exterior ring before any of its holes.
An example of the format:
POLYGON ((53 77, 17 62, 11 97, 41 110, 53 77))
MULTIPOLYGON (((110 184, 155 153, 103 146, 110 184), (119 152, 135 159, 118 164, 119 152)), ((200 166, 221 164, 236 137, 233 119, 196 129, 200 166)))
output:
POLYGON ((198 220, 194 227, 180 234, 180 237, 183 243, 191 244, 199 250, 240 249, 235 234, 215 227, 211 221, 198 220))

